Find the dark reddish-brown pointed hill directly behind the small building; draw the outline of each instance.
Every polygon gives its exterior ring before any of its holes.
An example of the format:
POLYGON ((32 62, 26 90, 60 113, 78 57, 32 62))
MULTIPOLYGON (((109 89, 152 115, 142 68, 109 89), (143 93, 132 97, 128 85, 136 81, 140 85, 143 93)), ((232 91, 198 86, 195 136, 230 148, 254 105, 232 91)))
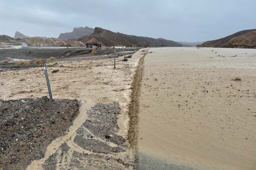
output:
POLYGON ((77 39, 77 41, 81 41, 83 43, 88 42, 99 42, 106 46, 128 46, 132 47, 134 44, 134 47, 143 47, 146 46, 146 42, 148 42, 149 47, 159 47, 160 44, 163 46, 177 46, 182 47, 183 44, 180 44, 178 42, 174 42, 171 40, 165 40, 165 39, 153 39, 149 37, 138 37, 138 36, 132 36, 132 35, 126 35, 122 33, 114 33, 109 30, 105 30, 99 27, 96 27, 94 29, 93 34, 84 36, 82 38, 77 39))

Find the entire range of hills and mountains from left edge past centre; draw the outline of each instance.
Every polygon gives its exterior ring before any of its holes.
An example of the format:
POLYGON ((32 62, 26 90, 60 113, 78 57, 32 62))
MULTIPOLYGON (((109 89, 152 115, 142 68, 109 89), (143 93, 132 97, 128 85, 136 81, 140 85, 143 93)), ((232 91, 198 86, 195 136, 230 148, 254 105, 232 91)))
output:
MULTIPOLYGON (((71 33, 61 33, 57 38, 47 37, 29 37, 20 32, 16 32, 14 36, 15 41, 25 42, 30 45, 42 44, 43 46, 85 46, 89 42, 98 42, 105 46, 128 46, 132 47, 185 47, 195 46, 198 42, 174 42, 163 38, 149 38, 139 37, 133 35, 126 35, 122 33, 114 33, 99 27, 95 29, 89 27, 74 28, 71 33)), ((8 41, 14 40, 11 37, 1 37, 0 40, 8 41)))

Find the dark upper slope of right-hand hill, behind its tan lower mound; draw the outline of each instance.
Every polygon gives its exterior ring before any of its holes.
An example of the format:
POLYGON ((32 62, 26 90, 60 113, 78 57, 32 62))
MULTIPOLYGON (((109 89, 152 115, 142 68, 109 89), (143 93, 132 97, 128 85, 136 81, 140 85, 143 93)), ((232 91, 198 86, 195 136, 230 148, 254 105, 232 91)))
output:
POLYGON ((243 34, 246 34, 252 31, 256 31, 256 29, 239 31, 235 34, 232 34, 230 36, 227 36, 218 40, 204 42, 201 45, 197 45, 197 47, 222 47, 223 44, 229 42, 232 38, 241 36, 243 34))

